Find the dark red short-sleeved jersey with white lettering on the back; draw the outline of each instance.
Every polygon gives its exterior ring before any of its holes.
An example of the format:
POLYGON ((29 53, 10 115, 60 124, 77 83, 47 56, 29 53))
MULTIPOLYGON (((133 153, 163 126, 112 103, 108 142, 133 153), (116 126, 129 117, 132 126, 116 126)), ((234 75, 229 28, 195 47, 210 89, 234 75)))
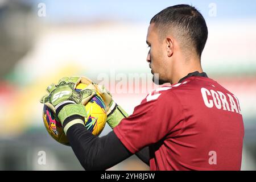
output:
POLYGON ((241 168, 239 101, 207 77, 188 77, 151 92, 114 133, 132 153, 149 146, 151 170, 241 168))

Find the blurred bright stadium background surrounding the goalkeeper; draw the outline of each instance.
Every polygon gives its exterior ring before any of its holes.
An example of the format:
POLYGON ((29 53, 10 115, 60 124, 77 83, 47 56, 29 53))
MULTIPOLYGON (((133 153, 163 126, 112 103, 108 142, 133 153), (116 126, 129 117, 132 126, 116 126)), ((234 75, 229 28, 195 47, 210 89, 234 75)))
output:
MULTIPOLYGON (((256 3, 249 0, 0 0, 0 170, 82 169, 71 147, 55 142, 43 126, 39 99, 45 88, 63 76, 101 81, 102 74, 149 74, 148 23, 160 10, 179 3, 196 6, 207 20, 203 68, 240 99, 242 169, 255 170, 256 3), (38 163, 39 151, 46 152, 45 165, 38 163)), ((145 96, 113 92, 129 114, 145 96)), ((106 126, 101 135, 109 131, 106 126)), ((110 170, 148 167, 132 156, 110 170)))

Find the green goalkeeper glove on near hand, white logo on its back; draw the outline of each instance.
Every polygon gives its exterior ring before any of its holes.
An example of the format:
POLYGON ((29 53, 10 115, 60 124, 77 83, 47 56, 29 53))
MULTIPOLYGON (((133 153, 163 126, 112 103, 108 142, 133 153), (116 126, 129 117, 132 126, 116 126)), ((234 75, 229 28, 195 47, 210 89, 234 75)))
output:
MULTIPOLYGON (((65 119, 72 115, 80 115, 86 117, 85 104, 96 94, 96 88, 93 86, 93 82, 85 77, 64 77, 59 80, 57 85, 51 84, 47 87, 48 94, 43 96, 40 100, 41 103, 47 105, 59 118, 61 125, 63 125, 65 119), (87 84, 88 86, 77 92, 75 90, 77 84, 80 82, 87 84)), ((72 125, 76 123, 84 122, 81 119, 75 119, 74 121, 65 124, 63 130, 65 134, 72 125)))

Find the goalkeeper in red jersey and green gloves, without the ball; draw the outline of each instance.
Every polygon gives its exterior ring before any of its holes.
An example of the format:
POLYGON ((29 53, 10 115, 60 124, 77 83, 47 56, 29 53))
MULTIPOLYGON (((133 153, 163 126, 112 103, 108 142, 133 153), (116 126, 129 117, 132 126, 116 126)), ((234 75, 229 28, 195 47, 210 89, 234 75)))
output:
MULTIPOLYGON (((59 117, 81 165, 105 170, 136 154, 151 170, 240 170, 243 119, 234 94, 208 78, 201 53, 208 29, 189 5, 167 7, 150 21, 147 61, 163 86, 128 116, 104 86, 85 77, 63 78, 42 98, 59 117), (75 92, 79 82, 89 85, 75 92), (83 106, 98 92, 113 128, 97 137, 86 130, 83 106)), ((156 77, 153 76, 153 81, 156 77)))

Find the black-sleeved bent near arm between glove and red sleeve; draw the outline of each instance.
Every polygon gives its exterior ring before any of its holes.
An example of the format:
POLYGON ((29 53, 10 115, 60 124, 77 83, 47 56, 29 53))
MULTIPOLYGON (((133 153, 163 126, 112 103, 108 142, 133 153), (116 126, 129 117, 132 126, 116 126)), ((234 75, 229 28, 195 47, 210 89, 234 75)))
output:
POLYGON ((83 125, 75 124, 68 129, 67 137, 86 170, 106 170, 133 155, 113 131, 104 137, 97 137, 83 125))

